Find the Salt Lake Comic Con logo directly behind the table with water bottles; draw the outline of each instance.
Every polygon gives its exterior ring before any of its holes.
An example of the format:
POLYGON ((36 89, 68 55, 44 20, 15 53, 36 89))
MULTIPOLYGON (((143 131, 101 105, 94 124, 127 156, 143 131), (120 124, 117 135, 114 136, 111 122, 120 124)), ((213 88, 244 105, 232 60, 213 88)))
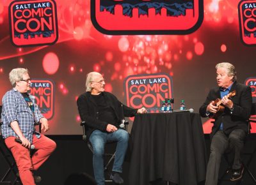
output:
POLYGON ((173 98, 172 86, 172 77, 166 73, 129 76, 124 80, 125 102, 128 107, 157 112, 165 98, 173 98))

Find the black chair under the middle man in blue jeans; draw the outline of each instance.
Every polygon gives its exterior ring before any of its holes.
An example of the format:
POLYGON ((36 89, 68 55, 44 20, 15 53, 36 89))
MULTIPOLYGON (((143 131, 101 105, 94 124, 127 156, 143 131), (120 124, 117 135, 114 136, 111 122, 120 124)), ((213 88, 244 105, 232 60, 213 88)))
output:
MULTIPOLYGON (((128 127, 129 121, 124 121, 124 129, 127 131, 127 127, 128 127)), ((84 142, 86 142, 88 148, 90 149, 90 151, 93 152, 93 147, 92 144, 89 142, 87 136, 86 136, 86 122, 82 121, 81 122, 81 126, 83 126, 83 140, 84 142)), ((108 144, 112 144, 112 143, 108 143, 108 144)), ((109 178, 110 174, 111 174, 111 168, 110 165, 113 164, 113 160, 115 159, 116 156, 116 151, 113 153, 104 153, 104 172, 106 177, 109 178)), ((111 179, 105 179, 105 182, 113 182, 111 179)))

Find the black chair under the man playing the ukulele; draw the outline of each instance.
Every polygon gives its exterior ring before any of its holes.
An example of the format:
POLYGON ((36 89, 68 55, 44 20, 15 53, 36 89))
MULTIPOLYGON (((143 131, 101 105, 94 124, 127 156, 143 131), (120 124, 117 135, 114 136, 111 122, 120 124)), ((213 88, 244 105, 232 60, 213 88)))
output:
MULTIPOLYGON (((251 117, 250 117, 250 119, 248 119, 248 137, 246 138, 246 142, 248 142, 248 140, 250 140, 252 138, 251 137, 251 128, 252 128, 251 124, 253 122, 256 123, 256 120, 253 120, 253 117, 252 117, 253 115, 256 115, 256 103, 252 103, 251 117)), ((246 147, 246 142, 244 144, 244 148, 246 147)), ((250 166, 250 163, 253 159, 253 156, 255 156, 255 153, 256 153, 256 147, 254 147, 254 149, 251 150, 250 152, 243 152, 243 154, 242 154, 243 156, 247 156, 247 158, 248 158, 246 163, 244 161, 242 161, 242 164, 244 166, 244 173, 245 173, 245 171, 248 173, 248 175, 252 179, 253 184, 256 184, 256 179, 255 179, 255 176, 250 171, 250 169, 248 168, 248 166, 250 166)), ((221 175, 221 178, 219 181, 220 183, 218 183, 219 185, 222 184, 223 181, 230 181, 230 178, 227 179, 226 177, 230 177, 230 175, 228 175, 228 174, 230 174, 230 172, 232 171, 232 167, 231 167, 232 162, 229 161, 228 154, 224 154, 223 158, 225 159, 225 161, 227 161, 228 168, 225 171, 225 173, 223 175, 221 175)), ((244 174, 243 174, 243 177, 244 177, 244 174)), ((243 185, 244 184, 243 177, 239 181, 234 181, 234 183, 236 183, 236 185, 243 185)), ((246 185, 246 184, 244 184, 244 185, 246 185)))

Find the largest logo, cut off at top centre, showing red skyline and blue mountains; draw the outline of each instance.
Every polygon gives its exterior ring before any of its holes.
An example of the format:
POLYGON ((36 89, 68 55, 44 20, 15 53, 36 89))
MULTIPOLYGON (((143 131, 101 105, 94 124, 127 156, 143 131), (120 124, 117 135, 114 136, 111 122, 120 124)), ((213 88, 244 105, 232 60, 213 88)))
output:
POLYGON ((188 34, 204 18, 203 0, 91 0, 93 25, 104 34, 188 34))

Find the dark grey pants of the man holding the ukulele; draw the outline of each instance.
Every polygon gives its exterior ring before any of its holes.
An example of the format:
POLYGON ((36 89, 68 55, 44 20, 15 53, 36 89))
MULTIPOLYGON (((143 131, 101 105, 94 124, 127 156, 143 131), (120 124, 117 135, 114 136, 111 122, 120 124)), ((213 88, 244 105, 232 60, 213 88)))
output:
POLYGON ((217 185, 220 169, 221 156, 225 151, 234 151, 234 162, 232 168, 241 168, 241 151, 244 146, 246 133, 243 129, 234 129, 229 135, 223 131, 217 131, 212 137, 211 153, 207 165, 205 185, 217 185))

